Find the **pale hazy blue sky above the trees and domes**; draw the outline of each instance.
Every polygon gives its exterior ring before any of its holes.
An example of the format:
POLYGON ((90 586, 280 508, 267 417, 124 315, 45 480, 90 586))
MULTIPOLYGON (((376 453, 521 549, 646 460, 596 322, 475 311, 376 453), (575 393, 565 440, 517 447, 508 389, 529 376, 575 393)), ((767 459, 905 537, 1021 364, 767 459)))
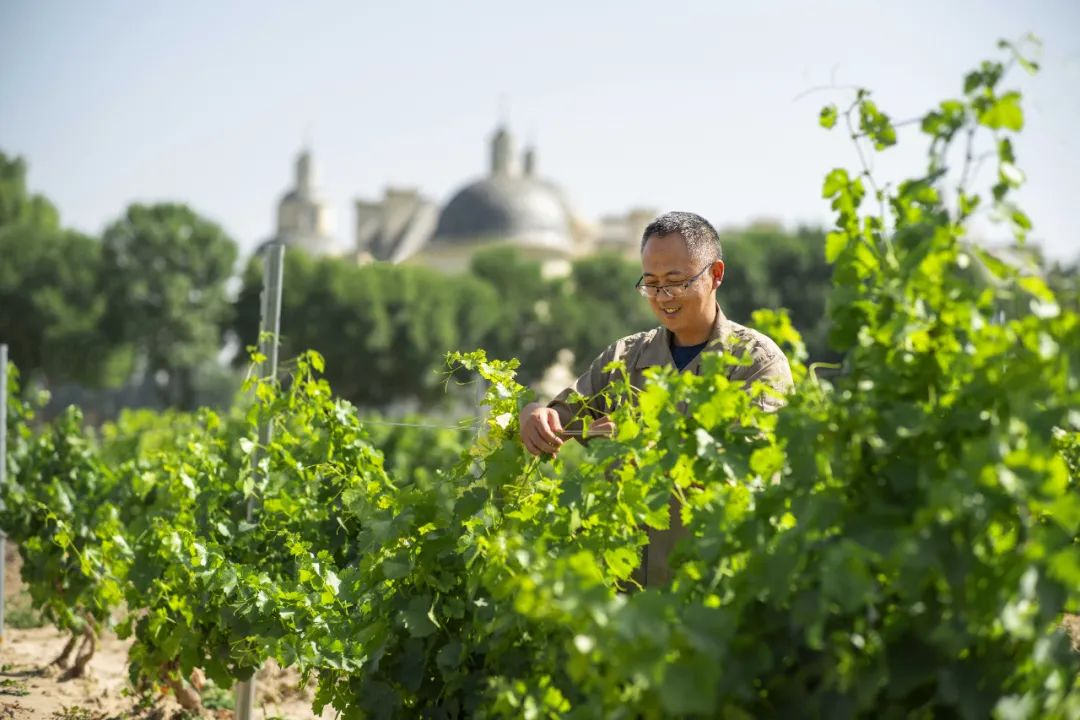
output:
MULTIPOLYGON (((864 86, 918 117, 1027 32, 1042 70, 1008 81, 1026 109, 1020 201, 1048 254, 1077 258, 1080 0, 0 0, 0 150, 70 227, 177 201, 244 252, 273 233, 305 145, 347 247, 353 199, 390 185, 445 203, 486 172, 501 121, 589 219, 824 225, 822 178, 858 160, 819 127, 823 105, 864 86)), ((917 173, 924 151, 902 128, 875 175, 917 173)))

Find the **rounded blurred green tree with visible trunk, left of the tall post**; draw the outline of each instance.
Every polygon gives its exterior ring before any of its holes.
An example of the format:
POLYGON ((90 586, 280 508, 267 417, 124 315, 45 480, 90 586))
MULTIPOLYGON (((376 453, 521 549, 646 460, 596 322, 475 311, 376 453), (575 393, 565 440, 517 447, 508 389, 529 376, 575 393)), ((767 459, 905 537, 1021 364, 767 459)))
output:
POLYGON ((105 231, 104 330, 113 342, 132 343, 148 371, 163 376, 170 405, 192 407, 194 371, 220 347, 235 258, 226 232, 186 205, 135 204, 105 231))

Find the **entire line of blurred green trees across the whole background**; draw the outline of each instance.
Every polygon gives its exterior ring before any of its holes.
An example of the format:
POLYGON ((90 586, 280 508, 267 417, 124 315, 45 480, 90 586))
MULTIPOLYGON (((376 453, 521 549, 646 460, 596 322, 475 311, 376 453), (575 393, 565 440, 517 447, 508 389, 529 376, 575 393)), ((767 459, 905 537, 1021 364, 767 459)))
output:
MULTIPOLYGON (((810 358, 837 359, 822 232, 762 223, 721 241, 725 312, 748 323, 754 310, 787 308, 810 358)), ((217 397, 197 390, 207 370, 220 375, 222 348, 246 364, 261 263, 252 258, 230 294, 238 250, 218 225, 185 205, 135 204, 99 239, 67 230, 55 207, 28 191, 25 163, 0 153, 0 341, 27 379, 118 386, 139 376, 150 378, 161 405, 228 402, 228 385, 217 397)), ((284 353, 320 351, 330 382, 357 404, 430 405, 444 396, 449 350, 517 357, 521 378, 536 382, 563 349, 580 371, 613 339, 654 324, 633 291, 638 264, 619 256, 583 258, 568 276, 549 279, 539 263, 496 247, 475 256, 471 270, 357 267, 291 252, 284 353)), ((1047 275, 1075 305, 1077 268, 1054 266, 1047 275)))

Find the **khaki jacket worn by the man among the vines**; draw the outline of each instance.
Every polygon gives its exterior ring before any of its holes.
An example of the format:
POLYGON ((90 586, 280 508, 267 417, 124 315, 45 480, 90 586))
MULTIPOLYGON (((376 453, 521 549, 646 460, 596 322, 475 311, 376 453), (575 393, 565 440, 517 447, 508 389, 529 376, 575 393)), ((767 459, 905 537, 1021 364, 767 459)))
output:
MULTIPOLYGON (((599 418, 610 413, 613 408, 608 407, 606 398, 599 397, 590 403, 589 406, 570 403, 568 398, 575 392, 591 398, 617 380, 615 373, 604 371, 609 363, 617 359, 625 363, 631 384, 634 388, 643 388, 646 368, 674 365, 671 353, 671 331, 666 328, 657 327, 617 340, 593 361, 584 375, 556 395, 548 404, 548 407, 554 408, 558 412, 559 420, 567 430, 580 427, 581 421, 576 420, 576 418, 581 418, 583 415, 599 418)), ((751 358, 750 365, 733 365, 728 368, 728 378, 743 380, 747 390, 755 381, 765 382, 785 395, 793 388, 792 368, 787 364, 787 357, 784 356, 777 343, 757 330, 729 321, 719 305, 716 308, 716 322, 713 324, 708 344, 701 351, 702 354, 707 352, 748 356, 751 358)), ((701 354, 693 358, 684 368, 684 371, 700 373, 701 354)), ((758 403, 764 409, 772 411, 783 405, 783 399, 762 393, 758 403)), ((666 585, 672 578, 667 567, 667 557, 675 544, 687 534, 688 531, 683 527, 678 502, 672 497, 671 529, 653 530, 650 528, 648 530, 649 544, 643 553, 642 565, 635 572, 635 579, 643 585, 650 587, 666 585)))

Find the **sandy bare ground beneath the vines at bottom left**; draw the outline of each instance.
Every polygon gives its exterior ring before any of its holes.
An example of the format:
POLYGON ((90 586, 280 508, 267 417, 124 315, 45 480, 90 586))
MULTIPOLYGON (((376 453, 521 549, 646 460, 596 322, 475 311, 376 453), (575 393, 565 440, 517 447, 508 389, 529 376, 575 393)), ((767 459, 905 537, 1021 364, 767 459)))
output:
MULTIPOLYGON (((15 624, 33 621, 29 613, 29 597, 18 575, 18 553, 8 544, 4 565, 5 610, 9 620, 14 611, 15 624)), ((89 665, 89 677, 62 680, 59 673, 43 668, 56 657, 66 637, 53 627, 11 627, 4 631, 0 644, 0 720, 181 720, 192 716, 184 714, 172 696, 159 697, 153 707, 139 710, 135 698, 126 694, 127 647, 111 633, 98 643, 97 652, 89 665)), ((300 689, 293 670, 268 666, 259 673, 255 720, 300 720, 314 718, 311 711, 311 692, 300 689)), ((207 709, 204 717, 231 720, 232 693, 214 691, 204 694, 207 709)), ((327 710, 323 718, 332 718, 327 710)))

